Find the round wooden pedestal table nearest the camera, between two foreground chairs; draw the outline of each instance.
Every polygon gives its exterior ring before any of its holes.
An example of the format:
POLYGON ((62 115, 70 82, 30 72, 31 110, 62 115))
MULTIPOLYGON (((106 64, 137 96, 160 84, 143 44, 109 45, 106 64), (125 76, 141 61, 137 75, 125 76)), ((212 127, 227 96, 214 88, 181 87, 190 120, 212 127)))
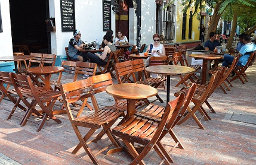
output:
POLYGON ((136 100, 147 99, 158 94, 158 90, 154 87, 135 83, 110 85, 106 91, 116 99, 127 99, 127 119, 135 113, 136 100))

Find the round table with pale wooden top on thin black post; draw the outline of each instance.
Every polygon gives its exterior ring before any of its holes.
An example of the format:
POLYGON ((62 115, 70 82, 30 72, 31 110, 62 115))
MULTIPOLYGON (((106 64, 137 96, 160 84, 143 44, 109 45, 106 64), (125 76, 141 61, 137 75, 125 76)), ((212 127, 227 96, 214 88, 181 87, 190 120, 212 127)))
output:
POLYGON ((171 75, 186 75, 195 72, 195 69, 180 65, 155 65, 146 68, 147 72, 153 74, 167 75, 166 102, 169 102, 171 75))

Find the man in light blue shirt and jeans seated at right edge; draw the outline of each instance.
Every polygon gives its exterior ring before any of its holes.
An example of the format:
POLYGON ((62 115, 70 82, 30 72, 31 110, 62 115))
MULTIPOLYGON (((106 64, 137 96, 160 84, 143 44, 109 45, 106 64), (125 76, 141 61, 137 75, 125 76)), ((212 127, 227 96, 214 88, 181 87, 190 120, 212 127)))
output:
MULTIPOLYGON (((238 53, 239 61, 238 64, 236 64, 236 66, 245 66, 246 63, 248 62, 251 53, 256 50, 256 45, 254 45, 254 43, 251 42, 251 37, 248 34, 243 35, 243 43, 245 44, 245 46, 243 46, 238 53)), ((232 55, 225 54, 222 66, 227 67, 231 65, 234 58, 235 57, 232 55)), ((255 61, 255 59, 252 59, 252 63, 255 61)))

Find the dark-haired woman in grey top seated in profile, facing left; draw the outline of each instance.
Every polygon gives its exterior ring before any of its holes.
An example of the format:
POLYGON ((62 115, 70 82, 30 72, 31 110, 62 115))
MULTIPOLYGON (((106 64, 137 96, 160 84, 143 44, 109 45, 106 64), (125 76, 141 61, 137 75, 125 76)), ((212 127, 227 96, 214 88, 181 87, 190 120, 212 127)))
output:
POLYGON ((87 58, 90 58, 90 62, 94 62, 98 65, 106 65, 107 60, 109 59, 110 52, 116 51, 116 46, 111 43, 112 37, 109 35, 105 35, 103 37, 103 42, 106 45, 104 47, 102 55, 98 53, 87 53, 87 58))

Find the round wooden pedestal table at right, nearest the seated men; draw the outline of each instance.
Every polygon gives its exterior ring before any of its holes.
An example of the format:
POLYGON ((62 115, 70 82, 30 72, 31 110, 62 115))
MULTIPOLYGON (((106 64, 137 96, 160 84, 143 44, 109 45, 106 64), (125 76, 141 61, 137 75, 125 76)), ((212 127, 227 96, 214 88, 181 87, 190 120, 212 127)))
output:
POLYGON ((190 54, 189 55, 195 59, 202 59, 203 66, 202 66, 202 84, 206 83, 206 75, 208 73, 209 67, 207 66, 208 61, 221 59, 223 56, 221 55, 214 55, 214 54, 190 54))

